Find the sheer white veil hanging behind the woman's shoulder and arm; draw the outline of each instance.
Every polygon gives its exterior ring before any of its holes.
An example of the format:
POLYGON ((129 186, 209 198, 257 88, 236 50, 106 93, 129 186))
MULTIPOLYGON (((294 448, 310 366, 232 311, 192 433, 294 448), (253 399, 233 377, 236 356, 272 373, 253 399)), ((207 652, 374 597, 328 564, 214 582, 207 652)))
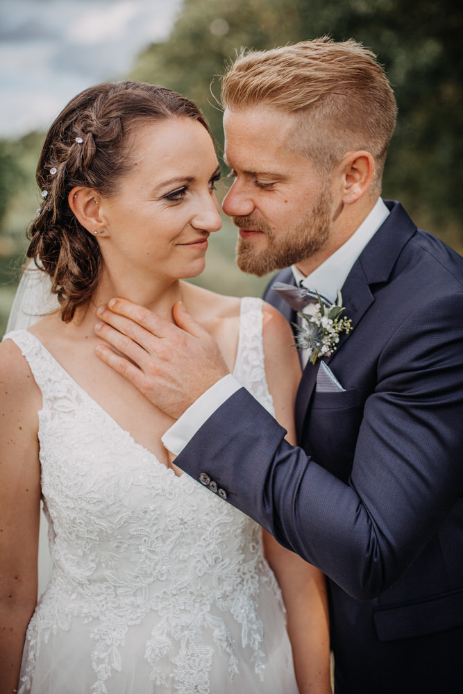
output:
MULTIPOLYGON (((12 303, 6 332, 26 330, 40 321, 43 316, 55 311, 58 298, 51 294, 51 279, 35 262, 24 270, 19 287, 12 303)), ((51 557, 47 539, 48 523, 43 512, 40 514, 38 595, 42 595, 51 578, 51 557)))

